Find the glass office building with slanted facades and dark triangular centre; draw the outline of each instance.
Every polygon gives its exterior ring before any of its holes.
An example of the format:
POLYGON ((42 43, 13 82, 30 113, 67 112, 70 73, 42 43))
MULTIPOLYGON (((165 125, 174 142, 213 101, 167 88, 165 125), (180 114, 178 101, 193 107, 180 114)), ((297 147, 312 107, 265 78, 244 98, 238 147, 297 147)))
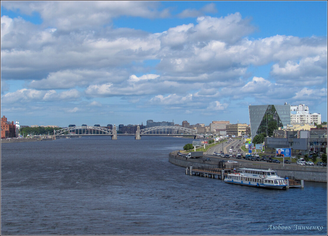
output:
POLYGON ((252 140, 260 133, 266 133, 268 135, 267 127, 271 121, 276 121, 278 127, 290 125, 290 104, 249 105, 248 110, 252 140))

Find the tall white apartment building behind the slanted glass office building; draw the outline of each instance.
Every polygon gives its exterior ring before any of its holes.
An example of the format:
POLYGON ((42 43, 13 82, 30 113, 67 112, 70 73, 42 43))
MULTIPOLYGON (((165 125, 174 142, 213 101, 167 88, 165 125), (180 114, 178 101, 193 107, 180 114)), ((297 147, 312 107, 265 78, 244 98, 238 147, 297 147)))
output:
POLYGON ((321 114, 309 113, 309 107, 304 104, 290 106, 290 122, 291 124, 321 124, 321 114))

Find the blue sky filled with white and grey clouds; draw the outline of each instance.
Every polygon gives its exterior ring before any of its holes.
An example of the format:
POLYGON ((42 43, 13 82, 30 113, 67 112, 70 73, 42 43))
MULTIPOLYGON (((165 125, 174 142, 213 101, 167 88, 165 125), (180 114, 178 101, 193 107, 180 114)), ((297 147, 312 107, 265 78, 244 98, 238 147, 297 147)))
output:
POLYGON ((1 117, 20 125, 327 121, 326 1, 1 1, 1 117))

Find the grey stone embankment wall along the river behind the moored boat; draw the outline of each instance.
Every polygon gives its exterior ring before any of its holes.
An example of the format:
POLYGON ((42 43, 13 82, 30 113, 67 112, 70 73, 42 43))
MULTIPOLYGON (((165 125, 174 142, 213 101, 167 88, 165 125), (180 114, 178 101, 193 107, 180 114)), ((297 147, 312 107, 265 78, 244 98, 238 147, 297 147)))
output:
MULTIPOLYGON (((203 160, 197 159, 187 159, 179 157, 174 153, 169 154, 169 161, 178 166, 183 167, 208 167, 208 168, 217 168, 217 164, 208 164, 204 163, 203 160)), ((295 179, 305 180, 305 181, 314 181, 314 182, 325 182, 327 183, 327 167, 300 167, 292 165, 275 165, 270 163, 248 163, 248 162, 238 162, 231 164, 234 168, 255 168, 255 169, 275 169, 277 170, 279 176, 292 176, 295 179)))

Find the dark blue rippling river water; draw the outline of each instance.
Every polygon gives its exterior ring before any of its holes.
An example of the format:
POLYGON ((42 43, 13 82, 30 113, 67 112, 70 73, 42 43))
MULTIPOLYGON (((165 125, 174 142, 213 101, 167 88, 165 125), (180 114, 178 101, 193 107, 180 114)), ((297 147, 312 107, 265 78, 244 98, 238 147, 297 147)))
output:
POLYGON ((1 235, 327 234, 326 183, 271 190, 185 175, 168 154, 186 143, 145 136, 2 143, 1 235))

